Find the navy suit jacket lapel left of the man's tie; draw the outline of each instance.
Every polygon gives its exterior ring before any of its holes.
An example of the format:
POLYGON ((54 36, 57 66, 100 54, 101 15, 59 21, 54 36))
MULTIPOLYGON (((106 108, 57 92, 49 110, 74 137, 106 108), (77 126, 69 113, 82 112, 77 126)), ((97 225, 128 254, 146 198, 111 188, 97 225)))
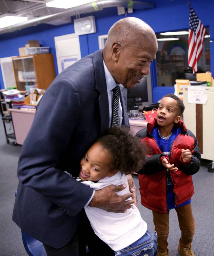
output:
POLYGON ((100 93, 99 107, 101 118, 100 134, 102 135, 109 127, 109 102, 103 67, 102 49, 94 53, 93 63, 95 67, 95 88, 100 93))

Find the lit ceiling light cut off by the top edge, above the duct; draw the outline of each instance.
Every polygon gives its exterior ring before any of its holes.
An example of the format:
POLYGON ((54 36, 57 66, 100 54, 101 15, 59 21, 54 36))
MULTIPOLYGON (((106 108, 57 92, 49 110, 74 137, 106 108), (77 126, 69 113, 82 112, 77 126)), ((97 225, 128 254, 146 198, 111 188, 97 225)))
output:
POLYGON ((68 9, 72 7, 76 7, 82 4, 88 4, 95 2, 95 0, 54 0, 51 2, 46 3, 47 7, 55 7, 55 8, 62 8, 62 9, 68 9))

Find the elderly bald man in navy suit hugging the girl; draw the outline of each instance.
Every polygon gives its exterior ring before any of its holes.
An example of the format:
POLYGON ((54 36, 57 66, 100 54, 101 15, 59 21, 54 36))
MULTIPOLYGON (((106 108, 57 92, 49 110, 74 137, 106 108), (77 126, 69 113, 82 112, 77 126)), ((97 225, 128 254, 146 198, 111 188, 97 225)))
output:
MULTIPOLYGON (((129 127, 127 89, 149 73, 156 52, 156 36, 146 23, 137 18, 119 20, 109 30, 103 51, 64 70, 39 102, 19 159, 13 220, 44 244, 47 255, 81 254, 78 247, 81 251, 81 242, 86 242, 81 234, 93 237, 90 225, 85 225, 84 206, 124 212, 135 203, 131 177, 133 193, 123 196, 116 193, 124 189, 122 184, 94 191, 72 177, 79 174, 82 156, 110 126, 129 127), (112 113, 115 87, 119 100, 112 113), (134 200, 126 201, 131 196, 134 200)), ((105 246, 99 241, 94 240, 93 256, 105 246)), ((113 255, 108 248, 102 251, 113 255)))

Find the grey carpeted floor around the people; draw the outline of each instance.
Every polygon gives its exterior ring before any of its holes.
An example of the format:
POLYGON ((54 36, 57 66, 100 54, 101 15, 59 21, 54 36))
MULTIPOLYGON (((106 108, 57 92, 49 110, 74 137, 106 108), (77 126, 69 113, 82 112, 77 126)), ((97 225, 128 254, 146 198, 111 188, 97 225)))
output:
MULTIPOLYGON (((26 256, 21 240, 21 231, 12 221, 18 178, 16 169, 21 146, 14 146, 12 140, 6 144, 2 121, 0 120, 0 256, 26 256)), ((209 161, 203 161, 201 169, 193 175, 195 194, 192 198, 195 219, 193 250, 195 256, 214 256, 214 173, 207 171, 209 161)), ((137 176, 134 177, 138 187, 137 176)), ((140 201, 139 191, 138 199, 140 201)), ((154 229, 152 212, 138 205, 143 219, 150 229, 154 229)), ((130 234, 131 235, 131 234, 130 234)), ((179 256, 177 252, 180 230, 175 210, 170 211, 169 255, 179 256)), ((62 255, 63 256, 63 255, 62 255)))

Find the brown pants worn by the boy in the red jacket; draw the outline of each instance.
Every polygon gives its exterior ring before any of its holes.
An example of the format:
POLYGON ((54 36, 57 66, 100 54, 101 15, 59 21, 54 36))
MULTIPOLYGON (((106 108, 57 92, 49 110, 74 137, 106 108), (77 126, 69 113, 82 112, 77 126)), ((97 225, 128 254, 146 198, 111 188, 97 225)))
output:
MULTIPOLYGON (((187 205, 177 207, 175 210, 177 212, 177 218, 181 230, 181 238, 179 243, 181 247, 186 248, 192 243, 195 231, 192 207, 189 203, 187 205)), ((168 246, 167 238, 169 236, 169 213, 152 211, 152 214, 155 230, 158 235, 158 252, 164 253, 166 252, 168 246)))

